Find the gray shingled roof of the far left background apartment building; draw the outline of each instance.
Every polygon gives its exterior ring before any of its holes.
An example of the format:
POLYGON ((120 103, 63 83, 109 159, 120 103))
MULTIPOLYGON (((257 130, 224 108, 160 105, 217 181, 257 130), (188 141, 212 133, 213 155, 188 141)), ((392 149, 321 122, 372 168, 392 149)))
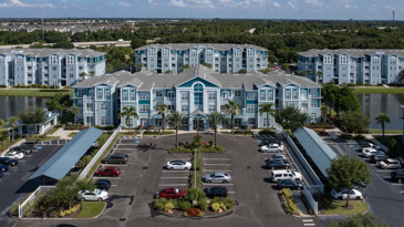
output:
POLYGON ((91 49, 80 50, 80 49, 0 49, 0 54, 10 55, 11 53, 21 53, 29 56, 49 56, 52 54, 58 55, 69 55, 74 54, 79 56, 93 58, 100 56, 105 53, 93 51, 91 49))

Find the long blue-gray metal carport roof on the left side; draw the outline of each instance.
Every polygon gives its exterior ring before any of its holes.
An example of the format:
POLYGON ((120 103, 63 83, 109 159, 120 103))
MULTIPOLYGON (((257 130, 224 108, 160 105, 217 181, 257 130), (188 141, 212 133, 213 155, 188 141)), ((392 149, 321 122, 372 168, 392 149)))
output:
POLYGON ((90 127, 77 133, 45 164, 43 164, 29 179, 46 176, 53 179, 63 178, 85 152, 100 137, 103 131, 90 127))

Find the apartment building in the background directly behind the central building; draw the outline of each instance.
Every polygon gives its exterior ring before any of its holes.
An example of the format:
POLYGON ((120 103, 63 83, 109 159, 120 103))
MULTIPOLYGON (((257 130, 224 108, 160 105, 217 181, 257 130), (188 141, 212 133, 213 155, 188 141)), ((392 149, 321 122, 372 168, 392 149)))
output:
POLYGON ((151 44, 135 50, 136 71, 173 74, 183 66, 204 64, 218 73, 259 71, 268 68, 268 50, 250 44, 151 44))

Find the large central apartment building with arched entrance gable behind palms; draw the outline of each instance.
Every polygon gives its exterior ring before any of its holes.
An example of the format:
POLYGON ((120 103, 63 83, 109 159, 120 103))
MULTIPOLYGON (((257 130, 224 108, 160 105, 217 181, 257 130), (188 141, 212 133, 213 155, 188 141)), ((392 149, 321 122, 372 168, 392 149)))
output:
MULTIPOLYGON (((74 85, 74 105, 80 107, 76 121, 84 125, 121 123, 117 115, 124 106, 134 106, 139 115, 131 118, 133 127, 162 126, 157 106, 165 103, 169 112, 178 111, 186 116, 184 130, 207 130, 208 114, 226 113, 231 100, 239 104, 235 116, 236 126, 267 127, 273 117, 259 114, 261 103, 273 103, 277 110, 293 105, 309 115, 308 123, 320 121, 321 86, 309 79, 271 72, 261 74, 220 74, 204 65, 196 65, 176 75, 156 74, 148 71, 131 74, 118 71, 99 78, 90 78, 74 85)), ((229 126, 230 115, 220 126, 229 126)), ((167 124, 167 123, 166 123, 167 124)), ((210 125, 211 126, 211 125, 210 125)))

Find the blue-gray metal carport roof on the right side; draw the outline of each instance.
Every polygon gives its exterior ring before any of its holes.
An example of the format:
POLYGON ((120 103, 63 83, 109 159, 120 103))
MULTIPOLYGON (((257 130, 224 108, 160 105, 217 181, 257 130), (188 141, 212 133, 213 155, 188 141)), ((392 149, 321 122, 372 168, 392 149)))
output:
POLYGON ((293 134, 320 172, 328 177, 325 169, 330 167, 331 161, 336 157, 335 152, 310 128, 301 127, 294 131, 293 134))

